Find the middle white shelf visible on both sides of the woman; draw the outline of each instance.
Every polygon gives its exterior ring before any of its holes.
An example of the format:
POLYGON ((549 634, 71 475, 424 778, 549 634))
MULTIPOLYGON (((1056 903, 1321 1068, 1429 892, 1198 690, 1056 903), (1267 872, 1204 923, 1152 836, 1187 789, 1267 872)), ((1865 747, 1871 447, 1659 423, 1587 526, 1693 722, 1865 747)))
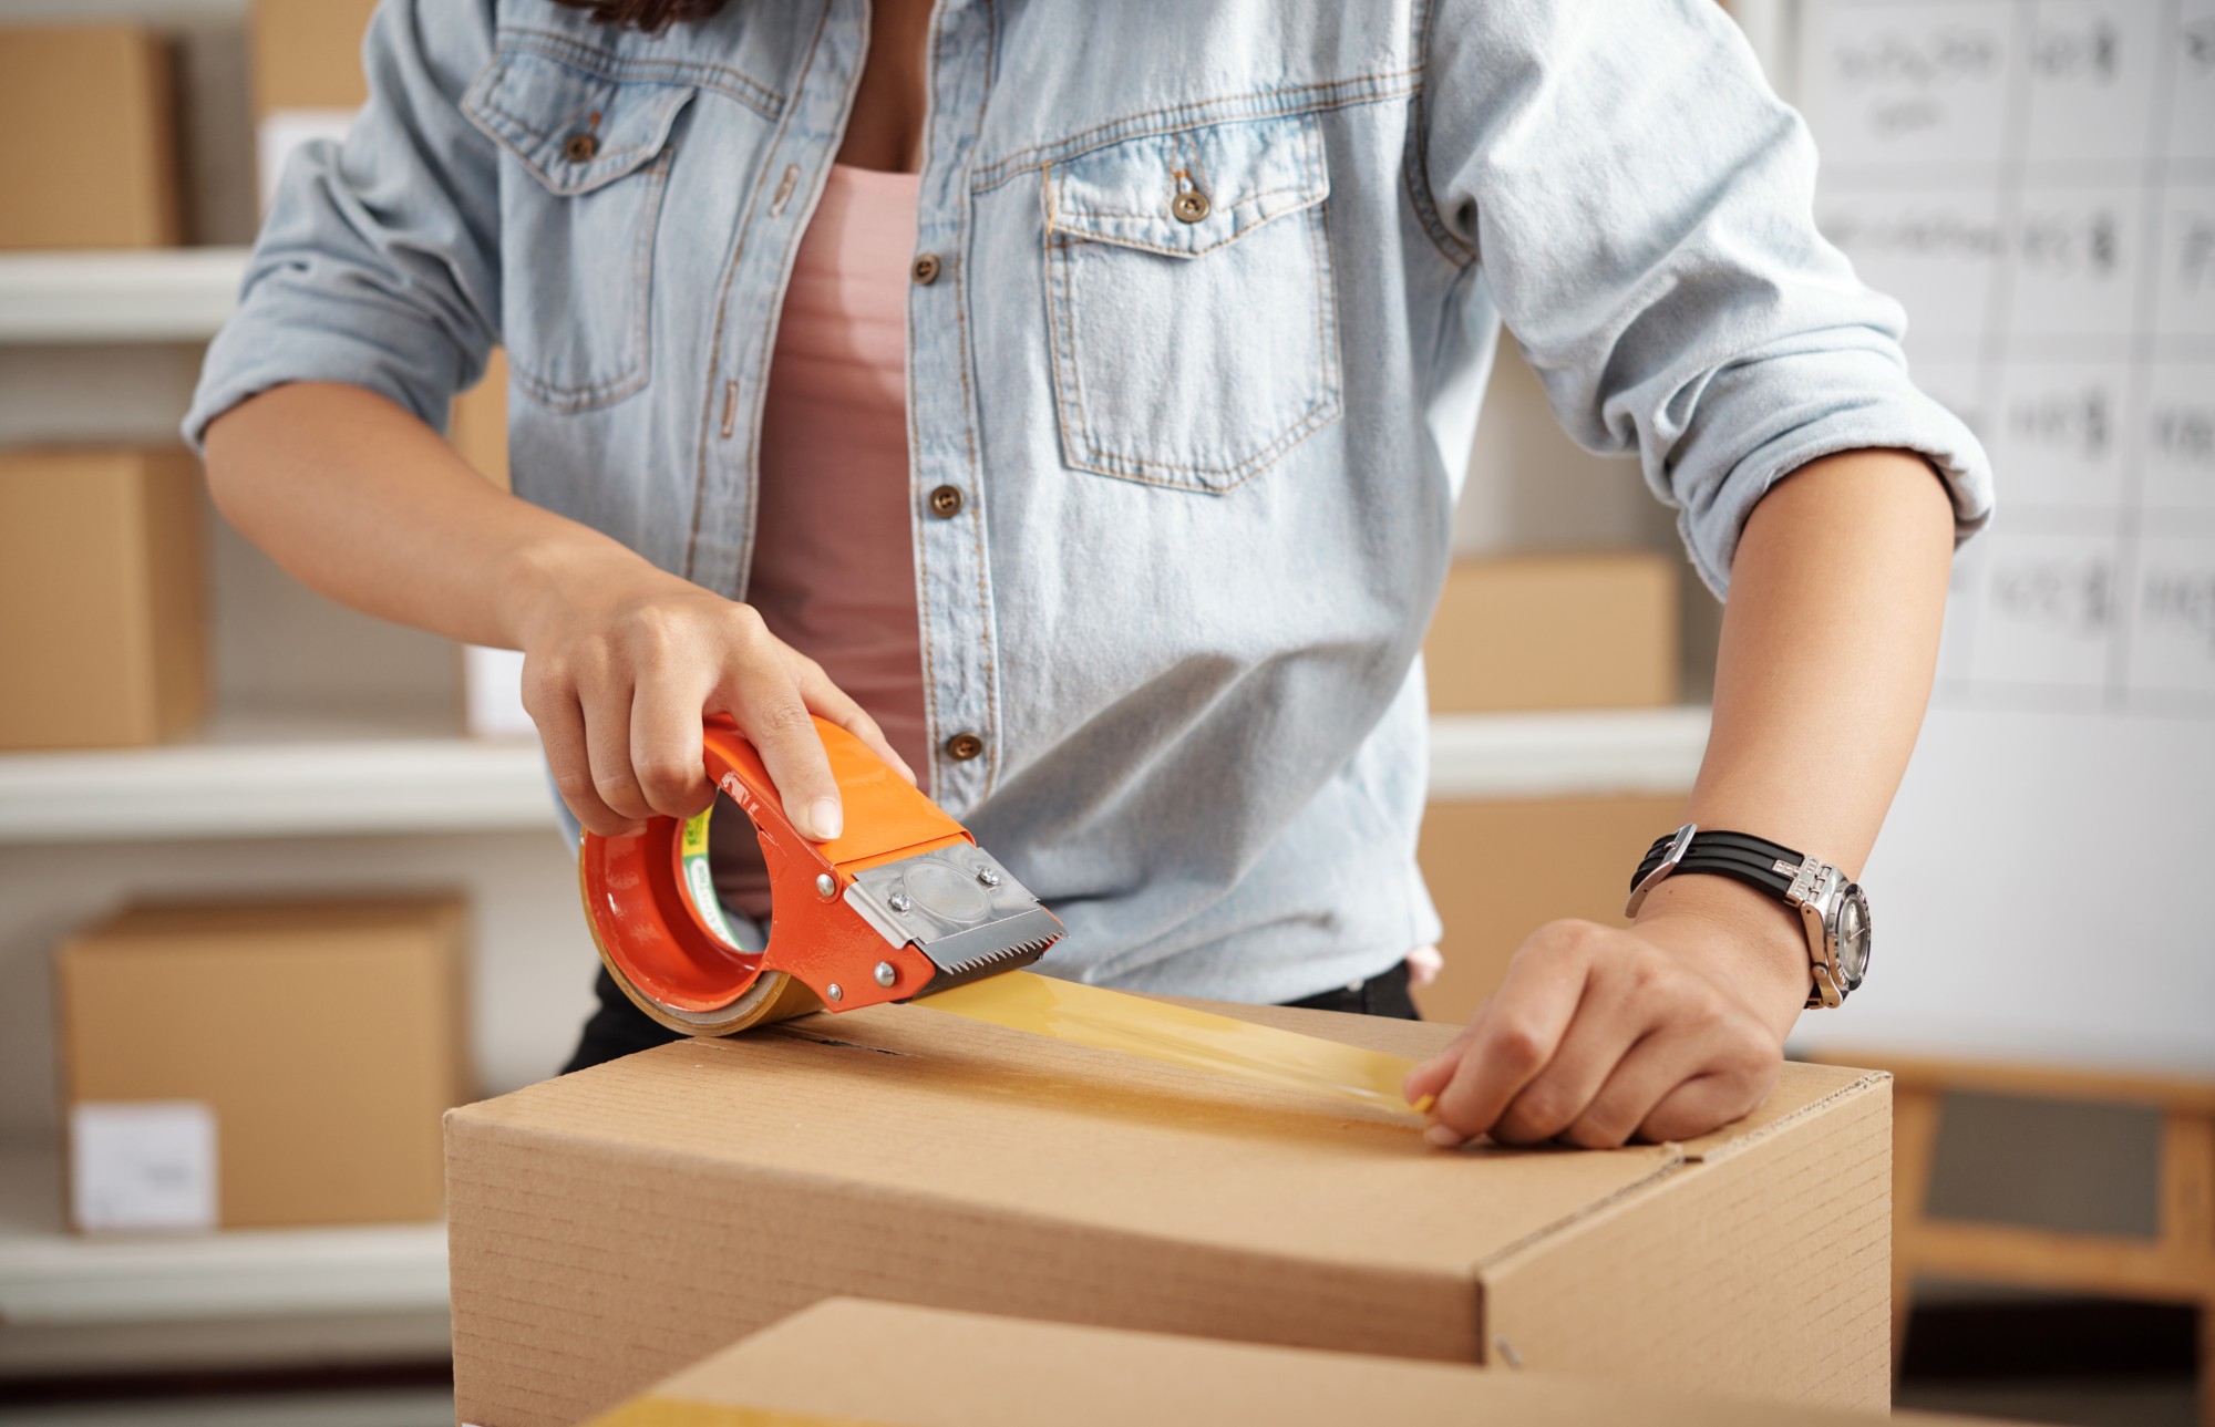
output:
MULTIPOLYGON (((1708 709, 1444 714, 1431 798, 1681 793, 1708 709)), ((538 747, 390 725, 230 720, 159 749, 0 756, 0 844, 554 827, 538 747)))

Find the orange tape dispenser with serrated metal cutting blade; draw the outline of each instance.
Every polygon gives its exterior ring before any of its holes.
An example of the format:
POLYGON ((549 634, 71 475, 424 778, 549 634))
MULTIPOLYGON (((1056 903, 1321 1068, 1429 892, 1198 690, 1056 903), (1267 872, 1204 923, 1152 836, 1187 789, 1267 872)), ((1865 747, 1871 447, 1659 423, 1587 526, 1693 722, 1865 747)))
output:
POLYGON ((709 780, 753 820, 769 864, 769 944, 740 946, 715 902, 709 811, 653 818, 622 838, 585 833, 578 882, 600 962, 671 1030, 729 1035, 811 1010, 910 1002, 1037 962, 1061 920, 837 725, 815 720, 846 831, 813 842, 784 815, 762 758, 722 716, 707 722, 709 780))

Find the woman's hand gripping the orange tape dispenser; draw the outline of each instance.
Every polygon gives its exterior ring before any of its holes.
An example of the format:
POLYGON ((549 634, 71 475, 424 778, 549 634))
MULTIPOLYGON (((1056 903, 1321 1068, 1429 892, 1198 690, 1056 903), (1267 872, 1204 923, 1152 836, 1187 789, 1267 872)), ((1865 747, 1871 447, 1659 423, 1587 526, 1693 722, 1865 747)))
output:
POLYGON ((667 574, 631 552, 591 552, 514 585, 505 620, 523 645, 523 707, 554 784, 600 835, 649 815, 689 818, 715 789, 700 722, 729 714, 760 751, 784 815, 826 842, 844 827, 837 782, 811 716, 828 718, 908 782, 915 773, 813 658, 751 605, 667 574))

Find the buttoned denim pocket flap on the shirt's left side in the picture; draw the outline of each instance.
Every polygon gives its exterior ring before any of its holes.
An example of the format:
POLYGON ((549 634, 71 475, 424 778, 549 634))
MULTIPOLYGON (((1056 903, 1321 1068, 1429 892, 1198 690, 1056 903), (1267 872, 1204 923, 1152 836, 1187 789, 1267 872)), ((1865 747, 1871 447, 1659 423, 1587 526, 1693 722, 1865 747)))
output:
POLYGON ((501 51, 461 111, 554 193, 591 193, 653 160, 691 84, 609 80, 529 51, 501 51))

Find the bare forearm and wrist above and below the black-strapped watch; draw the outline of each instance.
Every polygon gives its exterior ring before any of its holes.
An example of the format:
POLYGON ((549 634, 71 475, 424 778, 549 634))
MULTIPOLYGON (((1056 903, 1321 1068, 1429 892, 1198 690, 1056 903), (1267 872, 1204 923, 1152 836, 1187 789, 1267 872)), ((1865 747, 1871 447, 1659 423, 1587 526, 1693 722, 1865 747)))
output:
MULTIPOLYGON (((1951 556, 1951 503, 1914 454, 1825 456, 1763 496, 1730 572, 1714 729, 1686 818, 1858 873, 1929 700, 1951 556)), ((1790 1028, 1807 988, 1790 908, 1725 877, 1672 877, 1639 926, 1666 935, 1672 920, 1723 928, 1703 940, 1790 1028)))

